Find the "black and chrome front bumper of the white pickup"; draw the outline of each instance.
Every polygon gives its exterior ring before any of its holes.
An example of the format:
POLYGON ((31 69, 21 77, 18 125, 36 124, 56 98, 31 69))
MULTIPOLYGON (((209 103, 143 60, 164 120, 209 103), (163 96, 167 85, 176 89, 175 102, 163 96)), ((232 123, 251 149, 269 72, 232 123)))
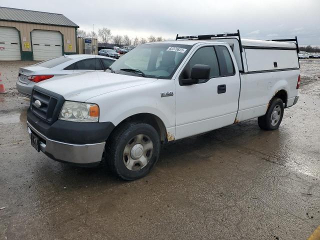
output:
POLYGON ((95 165, 101 161, 105 140, 114 128, 111 122, 73 122, 55 120, 48 124, 30 108, 26 114, 28 133, 39 138, 39 150, 48 157, 76 165, 95 165))

